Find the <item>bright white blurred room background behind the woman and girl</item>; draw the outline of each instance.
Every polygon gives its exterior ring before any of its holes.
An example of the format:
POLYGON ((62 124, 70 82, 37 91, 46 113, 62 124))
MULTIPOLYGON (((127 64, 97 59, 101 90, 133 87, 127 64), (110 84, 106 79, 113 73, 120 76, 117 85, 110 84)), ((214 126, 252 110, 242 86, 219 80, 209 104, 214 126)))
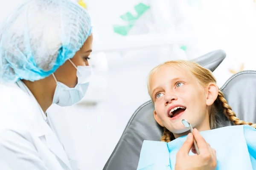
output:
MULTIPOLYGON (((0 24, 25 0, 0 0, 0 24)), ((93 78, 84 99, 49 112, 81 170, 102 170, 134 111, 148 101, 147 75, 172 59, 222 49, 218 86, 256 70, 254 0, 75 0, 92 18, 93 78)))

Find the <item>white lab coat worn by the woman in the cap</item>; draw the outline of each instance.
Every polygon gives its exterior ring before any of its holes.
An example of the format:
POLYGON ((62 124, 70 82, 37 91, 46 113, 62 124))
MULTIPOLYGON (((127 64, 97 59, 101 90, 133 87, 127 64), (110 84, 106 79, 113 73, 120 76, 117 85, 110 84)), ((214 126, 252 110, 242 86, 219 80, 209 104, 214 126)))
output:
POLYGON ((45 116, 23 82, 0 84, 0 169, 77 169, 70 163, 76 166, 67 157, 49 114, 45 116))

